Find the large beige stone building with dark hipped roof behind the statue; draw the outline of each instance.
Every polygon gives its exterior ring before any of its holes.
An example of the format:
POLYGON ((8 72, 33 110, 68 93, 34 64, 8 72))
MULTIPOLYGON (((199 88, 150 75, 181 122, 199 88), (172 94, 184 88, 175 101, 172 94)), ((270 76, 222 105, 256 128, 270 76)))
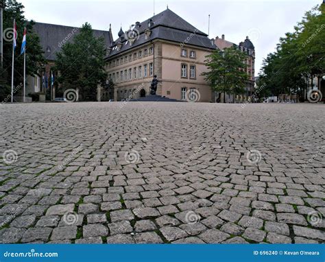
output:
POLYGON ((204 60, 216 49, 213 40, 167 10, 119 31, 108 49, 107 71, 114 91, 98 88, 99 100, 128 100, 149 95, 154 75, 157 95, 210 102, 212 92, 201 73, 204 60))

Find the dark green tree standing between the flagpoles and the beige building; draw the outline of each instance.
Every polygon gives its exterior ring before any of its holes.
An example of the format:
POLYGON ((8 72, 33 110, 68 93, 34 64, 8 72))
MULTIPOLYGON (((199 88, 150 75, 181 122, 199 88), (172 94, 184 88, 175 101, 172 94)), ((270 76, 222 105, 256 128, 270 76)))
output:
POLYGON ((91 25, 85 23, 73 42, 57 53, 58 82, 64 90, 79 88, 80 100, 95 101, 97 86, 104 86, 107 78, 105 55, 104 38, 95 38, 91 25))

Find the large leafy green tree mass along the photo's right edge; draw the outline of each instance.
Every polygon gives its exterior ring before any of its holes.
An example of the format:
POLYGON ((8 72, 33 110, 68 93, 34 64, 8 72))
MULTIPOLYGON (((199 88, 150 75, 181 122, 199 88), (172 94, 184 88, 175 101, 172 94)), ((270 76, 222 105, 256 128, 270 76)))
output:
POLYGON ((298 93, 306 89, 306 79, 325 72, 325 5, 306 12, 293 33, 280 38, 276 52, 269 53, 260 73, 269 93, 298 93))

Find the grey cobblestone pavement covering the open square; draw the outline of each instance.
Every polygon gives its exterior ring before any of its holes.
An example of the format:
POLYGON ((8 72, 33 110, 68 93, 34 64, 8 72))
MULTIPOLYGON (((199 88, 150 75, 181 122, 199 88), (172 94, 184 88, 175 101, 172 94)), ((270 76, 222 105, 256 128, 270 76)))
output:
POLYGON ((325 105, 0 105, 2 243, 322 243, 325 105))

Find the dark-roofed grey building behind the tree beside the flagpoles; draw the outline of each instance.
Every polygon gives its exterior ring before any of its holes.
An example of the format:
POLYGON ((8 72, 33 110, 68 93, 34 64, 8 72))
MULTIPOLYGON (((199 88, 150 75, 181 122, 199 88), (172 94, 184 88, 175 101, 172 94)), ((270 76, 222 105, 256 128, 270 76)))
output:
MULTIPOLYGON (((65 43, 71 42, 74 36, 78 34, 78 27, 69 27, 65 25, 52 25, 48 23, 35 23, 34 32, 40 38, 40 45, 47 60, 45 71, 38 72, 35 76, 27 76, 26 94, 38 94, 40 101, 45 100, 45 91, 50 92, 50 75, 51 67, 56 61, 56 53, 61 51, 65 43), (43 76, 47 76, 47 84, 42 80, 43 76)), ((112 29, 108 31, 93 29, 94 36, 103 37, 106 47, 110 47, 112 43, 112 29)), ((28 43, 27 43, 28 46, 28 43)), ((56 88, 51 92, 51 100, 56 97, 56 88)))

